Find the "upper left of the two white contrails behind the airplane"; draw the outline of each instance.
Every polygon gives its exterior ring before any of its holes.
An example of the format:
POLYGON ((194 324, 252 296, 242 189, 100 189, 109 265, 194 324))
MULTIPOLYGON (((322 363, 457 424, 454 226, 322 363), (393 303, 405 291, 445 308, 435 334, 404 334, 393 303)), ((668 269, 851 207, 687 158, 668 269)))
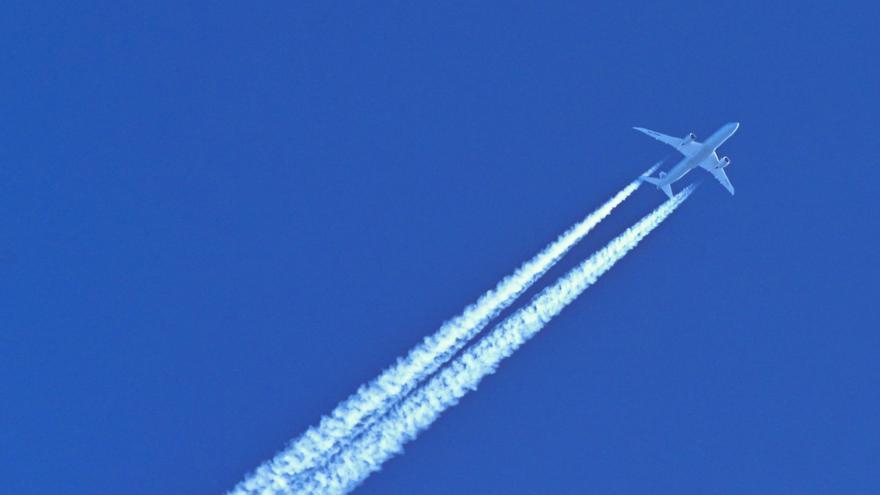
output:
MULTIPOLYGON (((650 175, 660 163, 644 175, 650 175)), ((403 358, 341 402, 318 426, 309 428, 289 446, 241 481, 230 495, 274 493, 284 490, 299 473, 322 465, 345 443, 381 417, 394 403, 454 356, 467 342, 534 282, 547 272, 599 222, 636 189, 641 178, 628 184, 597 210, 569 228, 534 258, 444 323, 403 358)))

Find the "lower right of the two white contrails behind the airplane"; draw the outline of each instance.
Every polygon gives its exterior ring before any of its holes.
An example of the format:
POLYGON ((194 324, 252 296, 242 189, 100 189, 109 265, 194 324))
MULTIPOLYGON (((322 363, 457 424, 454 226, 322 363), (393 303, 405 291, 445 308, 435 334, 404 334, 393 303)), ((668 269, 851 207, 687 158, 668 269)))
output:
POLYGON ((295 493, 342 494, 354 489, 382 463, 402 451, 446 409, 454 406, 480 380, 565 306, 607 272, 648 233, 663 222, 696 186, 688 186, 575 267, 556 284, 536 295, 491 333, 468 348, 428 383, 397 404, 373 427, 310 478, 293 486, 295 493))

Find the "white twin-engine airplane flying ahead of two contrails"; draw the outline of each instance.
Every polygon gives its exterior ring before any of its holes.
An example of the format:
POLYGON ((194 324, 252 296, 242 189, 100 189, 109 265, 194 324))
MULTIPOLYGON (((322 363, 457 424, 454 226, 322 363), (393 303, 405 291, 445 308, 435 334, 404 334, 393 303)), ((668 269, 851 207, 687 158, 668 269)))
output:
POLYGON ((730 165, 730 158, 725 156, 719 159, 715 150, 724 144, 724 141, 727 141, 730 136, 733 136, 733 133, 739 129, 739 122, 725 124, 721 129, 715 131, 715 134, 709 136, 705 143, 698 142, 697 136, 693 132, 683 138, 675 138, 643 127, 633 127, 633 129, 672 146, 684 155, 684 158, 668 173, 660 172, 659 177, 642 176, 643 181, 654 184, 657 189, 662 190, 671 198, 672 183, 687 175, 691 170, 701 167, 715 176, 718 182, 733 195, 733 184, 730 183, 730 179, 724 172, 724 168, 730 165))

